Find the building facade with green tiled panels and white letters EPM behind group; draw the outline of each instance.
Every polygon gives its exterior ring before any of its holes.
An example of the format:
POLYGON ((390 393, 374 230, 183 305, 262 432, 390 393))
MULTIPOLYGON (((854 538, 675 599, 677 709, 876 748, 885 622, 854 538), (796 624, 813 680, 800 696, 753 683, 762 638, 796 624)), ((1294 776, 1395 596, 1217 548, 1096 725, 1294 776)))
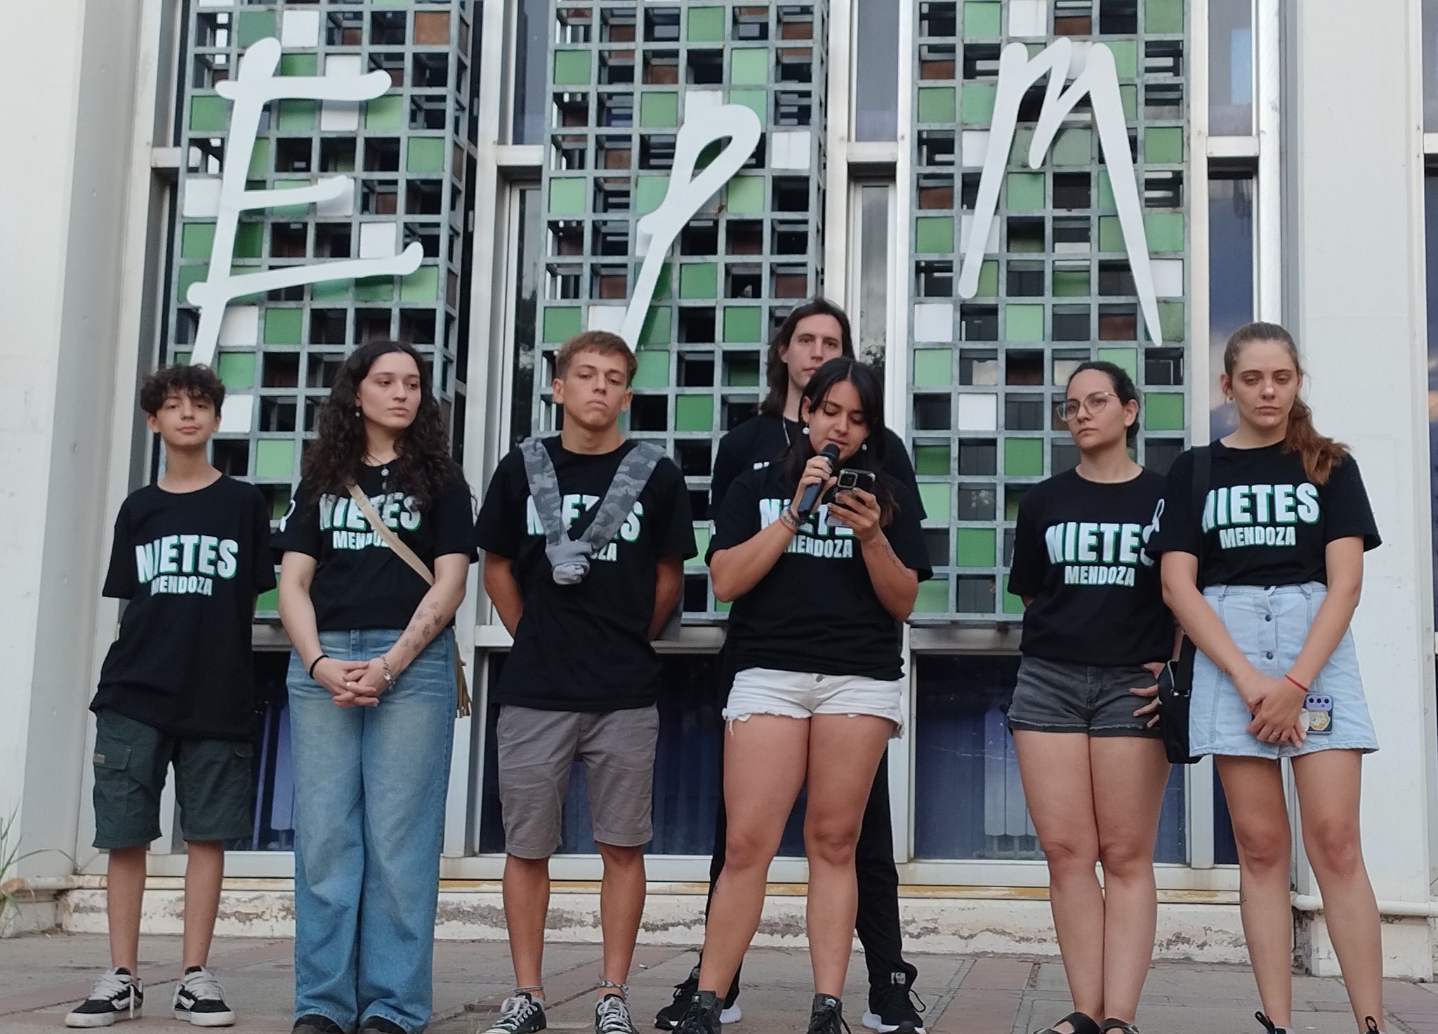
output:
MULTIPOLYGON (((68 895, 76 928, 95 920, 85 708, 116 621, 98 597, 109 525, 160 462, 134 404, 145 370, 216 367, 230 397, 214 462, 256 482, 278 519, 354 344, 424 352, 480 492, 509 447, 554 430, 558 344, 621 331, 638 355, 628 433, 679 462, 703 546, 718 439, 756 410, 774 328, 821 293, 883 368, 928 512, 935 578, 907 630, 909 720, 887 759, 910 933, 1051 951, 1004 728, 1018 500, 1076 460, 1051 403, 1078 362, 1135 374, 1137 459, 1163 470, 1229 426, 1222 344, 1263 318, 1296 332, 1319 423, 1352 444, 1383 532, 1355 620, 1383 744, 1365 762, 1365 838, 1389 968, 1431 975, 1438 561, 1422 370, 1438 298, 1425 282, 1438 3, 1357 7, 6 6, 0 37, 23 45, 0 70, 0 818, 13 815, 7 846, 39 851, 17 871, 68 895)), ((690 562, 682 633, 663 644, 649 863, 651 909, 676 939, 696 939, 707 874, 723 611, 690 562)), ((456 936, 487 929, 503 860, 485 687, 509 640, 477 577, 459 634, 479 706, 456 723, 450 775, 446 893, 473 905, 456 936)), ((255 649, 256 821, 227 871, 263 916, 292 866, 273 595, 255 649)), ((554 874, 581 902, 598 876, 582 782, 568 805, 554 874)), ((183 850, 157 841, 157 886, 183 850)), ((1155 860, 1162 951, 1241 956, 1211 762, 1173 769, 1155 860)), ((797 823, 771 877, 804 879, 797 823)), ((1301 848, 1294 887, 1303 951, 1330 968, 1301 848)))

